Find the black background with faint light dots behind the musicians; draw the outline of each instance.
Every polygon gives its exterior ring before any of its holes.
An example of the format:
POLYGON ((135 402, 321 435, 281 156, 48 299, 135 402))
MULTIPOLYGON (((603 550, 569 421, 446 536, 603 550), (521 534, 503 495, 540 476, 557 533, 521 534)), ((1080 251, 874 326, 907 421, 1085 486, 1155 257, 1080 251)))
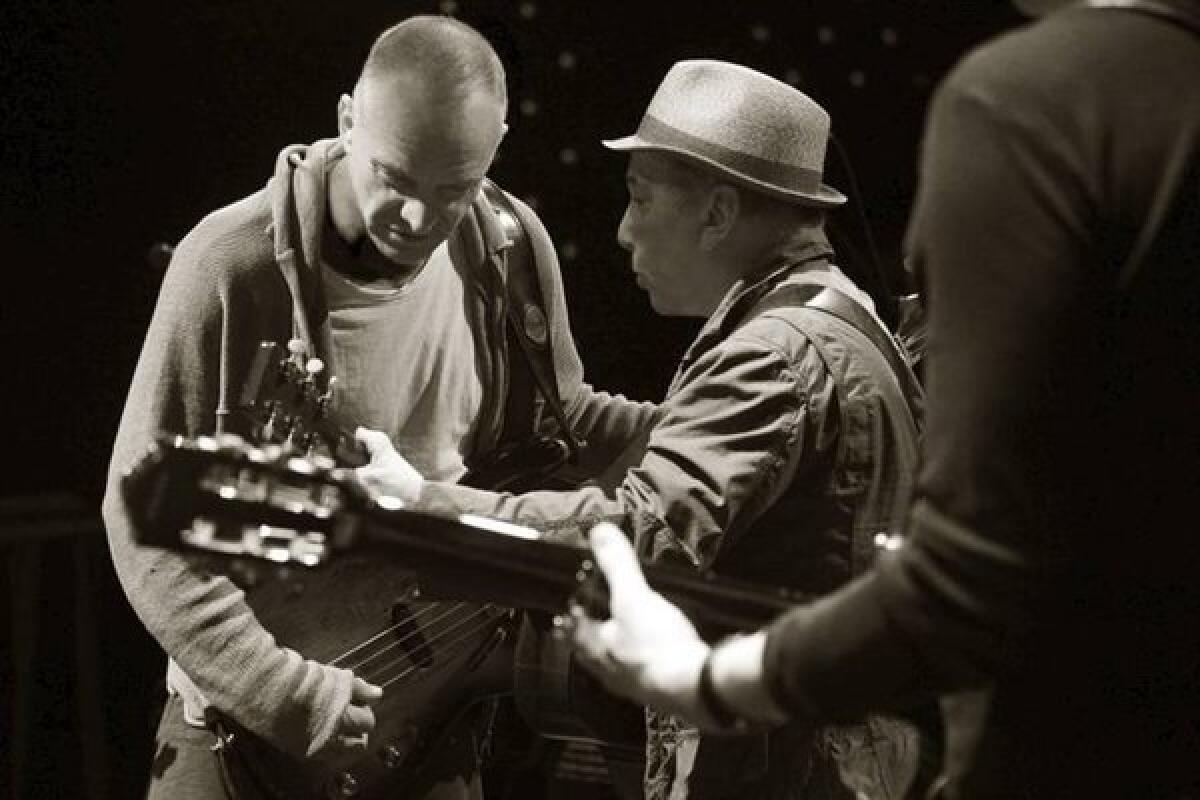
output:
POLYGON ((476 25, 509 73, 492 176, 559 247, 589 379, 661 397, 698 323, 656 318, 614 233, 631 132, 676 60, 794 83, 833 116, 840 260, 883 296, 930 92, 971 46, 1020 23, 998 0, 337 4, 35 0, 0 29, 6 97, 0 488, 0 787, 22 798, 143 789, 163 660, 108 561, 108 449, 157 294, 148 253, 257 190, 289 143, 332 136, 373 37, 415 12, 476 25))

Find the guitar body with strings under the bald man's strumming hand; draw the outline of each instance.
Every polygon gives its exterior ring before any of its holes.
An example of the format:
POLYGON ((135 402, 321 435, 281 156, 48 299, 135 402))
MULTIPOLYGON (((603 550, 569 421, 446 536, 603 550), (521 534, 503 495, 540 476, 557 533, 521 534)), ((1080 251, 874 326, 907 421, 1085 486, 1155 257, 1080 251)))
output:
POLYGON ((247 601, 281 644, 384 687, 368 747, 353 757, 294 758, 236 730, 232 771, 251 796, 420 796, 437 777, 430 759, 486 710, 481 702, 511 692, 515 614, 426 601, 410 573, 378 557, 292 571, 247 601))

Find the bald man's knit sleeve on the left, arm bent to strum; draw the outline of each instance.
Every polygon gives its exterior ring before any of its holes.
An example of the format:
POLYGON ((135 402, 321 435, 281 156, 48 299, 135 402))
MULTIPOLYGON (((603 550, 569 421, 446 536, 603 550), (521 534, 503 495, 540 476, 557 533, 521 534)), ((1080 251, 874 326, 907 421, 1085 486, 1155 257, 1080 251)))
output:
POLYGON ((164 276, 116 433, 104 524, 134 612, 208 702, 286 751, 311 754, 336 732, 353 675, 277 646, 224 577, 180 553, 139 547, 121 492, 155 433, 214 431, 226 385, 240 378, 263 332, 253 320, 271 300, 227 269, 239 242, 210 241, 204 229, 179 245, 164 276))

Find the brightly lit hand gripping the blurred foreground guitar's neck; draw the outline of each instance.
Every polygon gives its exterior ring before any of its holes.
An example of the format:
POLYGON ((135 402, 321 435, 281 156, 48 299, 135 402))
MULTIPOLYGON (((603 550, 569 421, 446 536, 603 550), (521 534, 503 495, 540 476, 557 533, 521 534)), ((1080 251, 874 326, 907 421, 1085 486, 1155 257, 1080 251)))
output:
POLYGON ((676 606, 646 584, 632 545, 614 525, 588 534, 608 582, 607 620, 571 608, 576 652, 611 691, 695 722, 706 716, 697 685, 708 644, 676 606))

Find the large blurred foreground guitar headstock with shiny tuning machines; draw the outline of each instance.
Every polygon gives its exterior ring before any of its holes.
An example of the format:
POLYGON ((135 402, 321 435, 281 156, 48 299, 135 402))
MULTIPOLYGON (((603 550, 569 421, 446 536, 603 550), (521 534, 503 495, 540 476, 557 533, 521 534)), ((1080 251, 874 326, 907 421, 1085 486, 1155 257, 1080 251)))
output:
POLYGON ((282 445, 162 434, 122 477, 140 545, 320 566, 372 501, 350 470, 282 445))

